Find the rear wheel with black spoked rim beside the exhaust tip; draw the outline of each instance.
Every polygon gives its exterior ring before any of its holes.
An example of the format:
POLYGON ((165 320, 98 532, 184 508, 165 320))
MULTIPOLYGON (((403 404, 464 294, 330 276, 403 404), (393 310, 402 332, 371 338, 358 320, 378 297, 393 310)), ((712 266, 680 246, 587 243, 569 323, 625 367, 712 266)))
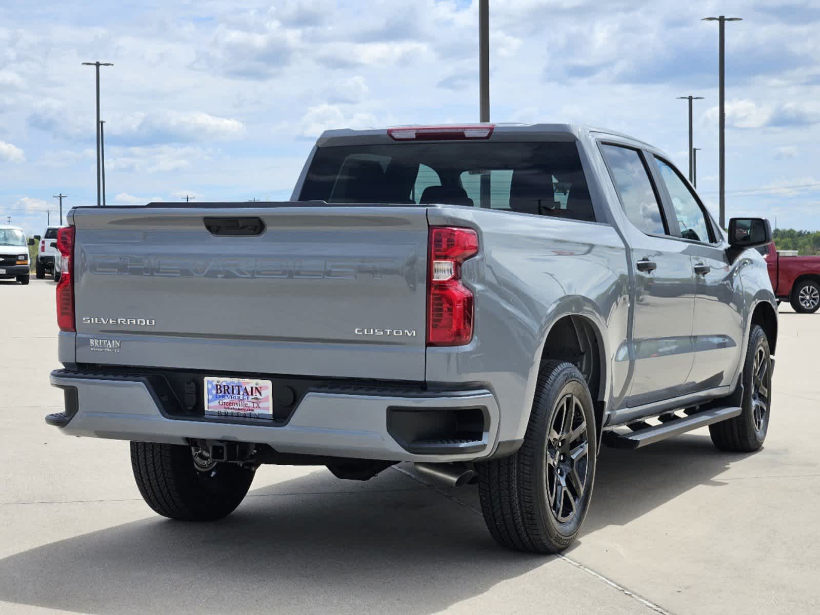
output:
POLYGON ((476 463, 481 512, 496 542, 530 553, 558 553, 572 544, 590 508, 597 453, 584 376, 572 363, 545 362, 521 449, 476 463))

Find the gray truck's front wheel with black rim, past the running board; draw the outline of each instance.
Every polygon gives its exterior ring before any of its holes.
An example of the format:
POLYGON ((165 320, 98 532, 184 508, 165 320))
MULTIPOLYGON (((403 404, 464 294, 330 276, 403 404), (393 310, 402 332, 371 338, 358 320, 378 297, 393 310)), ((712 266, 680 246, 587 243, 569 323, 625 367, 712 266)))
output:
MULTIPOLYGON (((759 325, 749 333, 749 346, 740 376, 742 411, 737 417, 709 426, 709 435, 718 449, 734 453, 751 453, 763 446, 772 408, 772 358, 768 338, 759 325)), ((737 403, 737 402, 735 402, 737 403)))

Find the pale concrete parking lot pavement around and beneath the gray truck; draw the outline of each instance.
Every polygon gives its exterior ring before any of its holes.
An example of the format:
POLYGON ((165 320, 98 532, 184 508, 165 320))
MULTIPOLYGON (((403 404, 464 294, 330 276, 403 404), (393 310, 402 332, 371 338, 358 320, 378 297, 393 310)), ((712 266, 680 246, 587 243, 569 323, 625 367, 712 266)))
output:
POLYGON ((545 558, 496 547, 474 487, 408 466, 262 467, 223 522, 157 517, 126 443, 43 423, 62 408, 53 312, 51 281, 0 283, 0 613, 820 611, 820 314, 781 307, 761 451, 706 430, 604 449, 581 540, 545 558))

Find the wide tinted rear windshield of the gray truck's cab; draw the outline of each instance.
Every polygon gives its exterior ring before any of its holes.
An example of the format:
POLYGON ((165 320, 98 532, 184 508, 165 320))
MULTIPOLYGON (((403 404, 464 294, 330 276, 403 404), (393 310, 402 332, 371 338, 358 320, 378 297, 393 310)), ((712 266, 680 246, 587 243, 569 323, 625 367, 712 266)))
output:
POLYGON ((595 221, 581 158, 572 142, 416 142, 318 148, 299 199, 452 204, 595 221))

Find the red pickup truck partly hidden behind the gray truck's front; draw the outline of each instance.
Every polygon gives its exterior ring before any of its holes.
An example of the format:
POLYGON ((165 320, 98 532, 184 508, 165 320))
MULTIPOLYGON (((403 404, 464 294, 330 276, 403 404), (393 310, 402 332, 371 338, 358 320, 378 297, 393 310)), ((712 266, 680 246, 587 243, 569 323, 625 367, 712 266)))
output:
POLYGON ((820 256, 783 256, 774 244, 757 248, 768 263, 769 278, 778 301, 795 312, 811 314, 820 307, 820 256))

